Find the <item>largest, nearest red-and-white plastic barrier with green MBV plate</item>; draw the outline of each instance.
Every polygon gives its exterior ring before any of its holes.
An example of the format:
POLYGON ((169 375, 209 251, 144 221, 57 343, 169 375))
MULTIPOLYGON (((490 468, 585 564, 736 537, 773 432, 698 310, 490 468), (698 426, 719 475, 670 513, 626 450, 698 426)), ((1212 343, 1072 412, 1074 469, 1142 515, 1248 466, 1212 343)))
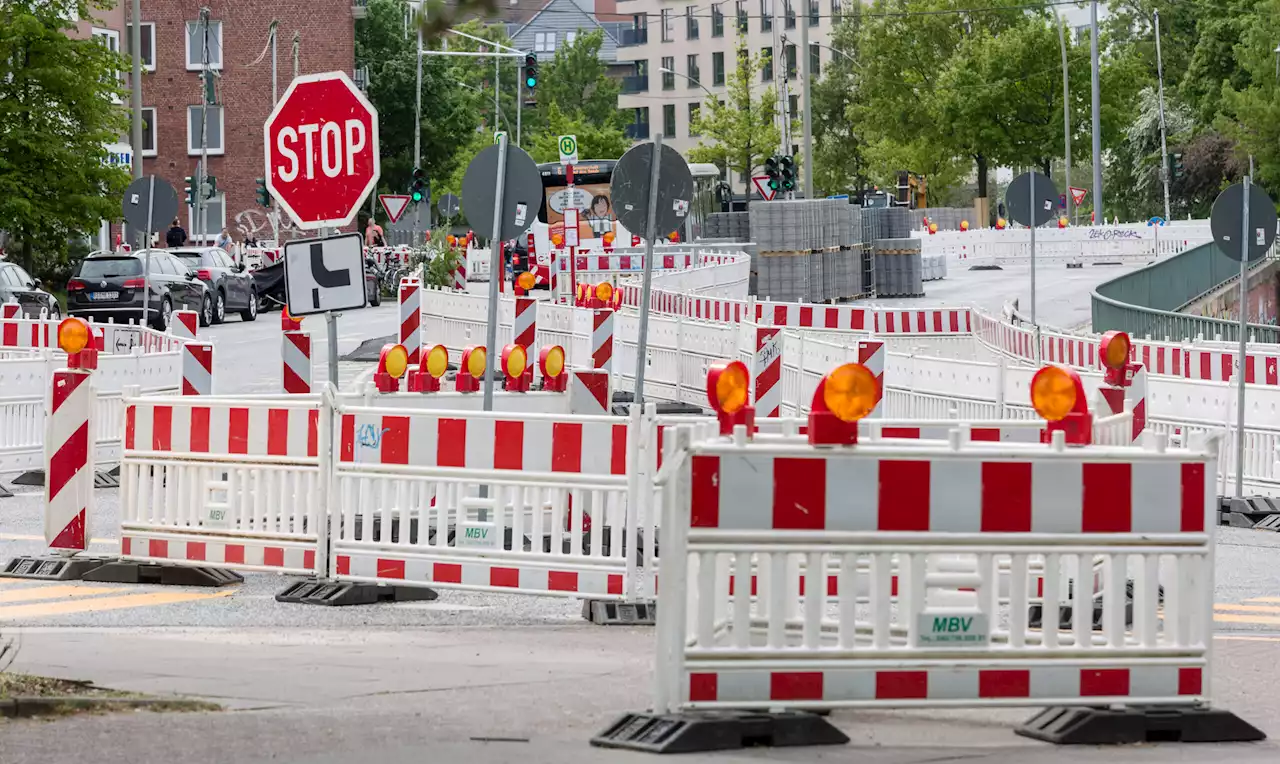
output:
POLYGON ((658 713, 1207 701, 1213 444, 675 440, 658 713), (1036 559, 1050 613, 1092 612, 1091 587, 1060 584, 1101 559, 1100 631, 1030 628, 1036 559), (733 586, 746 569, 756 591, 733 586), (860 589, 869 609, 840 596, 860 589))

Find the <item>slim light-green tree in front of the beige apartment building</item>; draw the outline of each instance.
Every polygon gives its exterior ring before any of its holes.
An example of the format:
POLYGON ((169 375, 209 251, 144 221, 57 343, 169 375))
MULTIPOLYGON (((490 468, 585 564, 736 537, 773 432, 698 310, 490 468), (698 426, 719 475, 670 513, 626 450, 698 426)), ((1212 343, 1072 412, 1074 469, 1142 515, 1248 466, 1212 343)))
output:
MULTIPOLYGON (((777 154, 782 141, 774 119, 777 92, 769 86, 759 97, 751 95, 751 84, 763 63, 762 56, 748 51, 745 42, 739 42, 736 64, 728 73, 727 100, 710 99, 703 104, 694 122, 701 137, 689 151, 689 159, 723 168, 730 177, 740 173, 750 178, 777 154)), ((750 192, 746 197, 751 198, 750 192)))

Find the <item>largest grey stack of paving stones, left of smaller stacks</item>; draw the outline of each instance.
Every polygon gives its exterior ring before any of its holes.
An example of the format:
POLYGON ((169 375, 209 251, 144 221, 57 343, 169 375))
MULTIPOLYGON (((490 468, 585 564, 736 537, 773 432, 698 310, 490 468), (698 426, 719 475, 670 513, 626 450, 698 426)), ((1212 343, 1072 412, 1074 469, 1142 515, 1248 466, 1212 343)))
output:
POLYGON ((778 302, 826 302, 865 294, 860 210, 846 200, 776 200, 750 207, 756 294, 778 302))

